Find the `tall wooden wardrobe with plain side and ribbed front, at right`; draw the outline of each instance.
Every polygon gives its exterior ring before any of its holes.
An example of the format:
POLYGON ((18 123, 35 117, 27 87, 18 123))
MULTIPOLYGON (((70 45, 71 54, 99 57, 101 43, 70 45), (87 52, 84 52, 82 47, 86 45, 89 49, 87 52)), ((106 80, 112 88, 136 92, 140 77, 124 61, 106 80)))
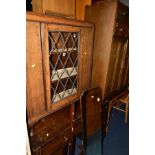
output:
POLYGON ((87 6, 85 20, 95 24, 92 86, 103 99, 129 84, 129 9, 117 0, 87 6))

